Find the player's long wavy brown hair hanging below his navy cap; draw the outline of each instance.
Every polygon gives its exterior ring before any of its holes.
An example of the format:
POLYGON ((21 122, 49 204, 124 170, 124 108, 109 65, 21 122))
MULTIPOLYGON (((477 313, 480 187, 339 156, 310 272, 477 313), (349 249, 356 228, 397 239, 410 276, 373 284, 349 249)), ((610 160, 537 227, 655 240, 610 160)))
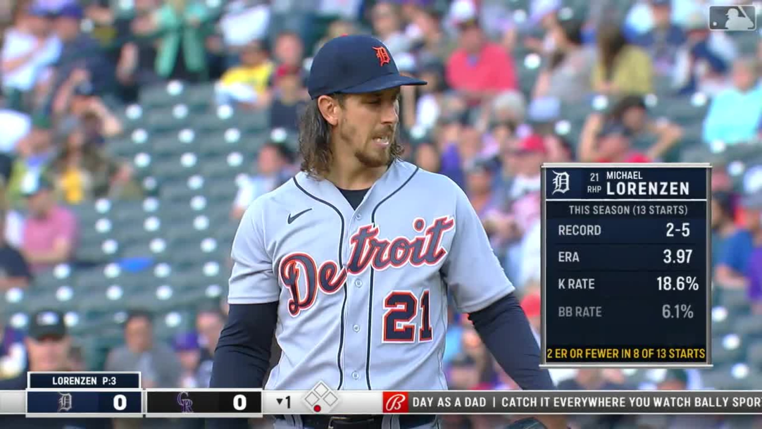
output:
MULTIPOLYGON (((330 96, 344 106, 346 95, 330 96)), ((389 147, 389 165, 399 160, 404 150, 402 144, 399 144, 399 136, 395 134, 389 147)), ((320 113, 317 99, 309 102, 299 119, 299 155, 302 156, 301 169, 308 176, 325 178, 331 170, 331 124, 320 113)))

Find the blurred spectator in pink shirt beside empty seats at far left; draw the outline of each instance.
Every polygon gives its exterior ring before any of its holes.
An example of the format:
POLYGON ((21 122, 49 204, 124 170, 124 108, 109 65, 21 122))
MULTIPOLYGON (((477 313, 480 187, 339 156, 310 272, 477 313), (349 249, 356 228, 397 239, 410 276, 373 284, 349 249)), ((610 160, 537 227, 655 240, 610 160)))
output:
POLYGON ((28 176, 21 188, 29 208, 22 253, 32 271, 39 273, 66 263, 75 249, 77 222, 74 215, 56 202, 53 185, 46 179, 28 176))

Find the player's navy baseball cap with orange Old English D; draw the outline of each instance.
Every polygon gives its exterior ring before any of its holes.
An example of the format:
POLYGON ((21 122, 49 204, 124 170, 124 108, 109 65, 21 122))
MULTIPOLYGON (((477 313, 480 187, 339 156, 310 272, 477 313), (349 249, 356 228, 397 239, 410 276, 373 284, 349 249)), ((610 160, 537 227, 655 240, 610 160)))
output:
POLYGON ((426 83, 399 74, 389 49, 381 40, 353 34, 328 40, 315 54, 307 90, 314 100, 335 92, 360 94, 426 83))

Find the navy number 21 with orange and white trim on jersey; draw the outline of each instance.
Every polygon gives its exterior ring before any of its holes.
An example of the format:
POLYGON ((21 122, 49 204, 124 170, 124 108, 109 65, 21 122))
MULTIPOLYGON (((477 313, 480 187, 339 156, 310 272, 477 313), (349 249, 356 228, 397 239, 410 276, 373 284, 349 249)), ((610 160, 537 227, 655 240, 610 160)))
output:
POLYGON ((410 291, 392 291, 383 300, 386 312, 383 315, 384 343, 415 343, 431 341, 431 308, 429 289, 421 292, 420 298, 410 291), (418 326, 415 318, 421 314, 418 326), (417 337, 416 337, 417 336, 417 337))

